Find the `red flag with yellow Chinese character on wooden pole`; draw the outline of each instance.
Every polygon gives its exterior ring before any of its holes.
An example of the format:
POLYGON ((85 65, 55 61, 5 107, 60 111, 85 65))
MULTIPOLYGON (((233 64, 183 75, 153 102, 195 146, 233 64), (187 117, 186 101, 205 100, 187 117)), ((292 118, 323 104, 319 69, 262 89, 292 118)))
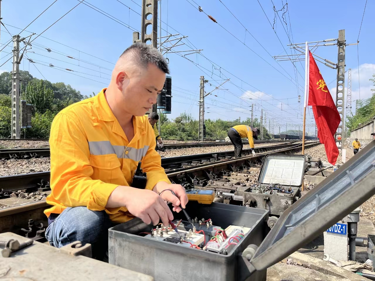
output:
POLYGON ((315 123, 318 128, 318 138, 320 143, 324 143, 328 161, 335 165, 339 149, 334 136, 341 117, 310 51, 308 105, 312 106, 315 123))

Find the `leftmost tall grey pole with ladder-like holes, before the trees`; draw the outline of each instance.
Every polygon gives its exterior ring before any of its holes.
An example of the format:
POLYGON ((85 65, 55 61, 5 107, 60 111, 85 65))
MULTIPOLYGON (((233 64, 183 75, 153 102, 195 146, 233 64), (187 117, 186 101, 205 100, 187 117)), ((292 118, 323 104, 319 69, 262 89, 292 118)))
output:
POLYGON ((20 138, 20 35, 13 37, 13 70, 12 70, 12 131, 11 138, 20 138))

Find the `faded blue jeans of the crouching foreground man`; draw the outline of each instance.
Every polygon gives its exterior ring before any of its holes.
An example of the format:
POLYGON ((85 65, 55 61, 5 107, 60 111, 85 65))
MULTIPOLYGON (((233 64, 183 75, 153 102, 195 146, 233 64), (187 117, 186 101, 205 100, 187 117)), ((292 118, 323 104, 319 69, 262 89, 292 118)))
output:
POLYGON ((84 206, 66 208, 48 225, 46 239, 57 248, 74 241, 90 243, 93 258, 103 260, 108 249, 108 229, 112 226, 105 211, 91 211, 84 206))

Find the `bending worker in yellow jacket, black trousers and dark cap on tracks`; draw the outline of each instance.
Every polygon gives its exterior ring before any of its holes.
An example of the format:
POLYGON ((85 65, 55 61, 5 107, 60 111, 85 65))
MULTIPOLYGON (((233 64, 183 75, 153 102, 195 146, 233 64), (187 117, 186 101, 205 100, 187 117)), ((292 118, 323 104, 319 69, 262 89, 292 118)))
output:
POLYGON ((229 129, 228 137, 234 146, 234 157, 241 157, 243 148, 241 138, 248 138, 251 152, 255 155, 254 139, 258 139, 259 132, 260 130, 258 128, 247 125, 237 125, 229 129))

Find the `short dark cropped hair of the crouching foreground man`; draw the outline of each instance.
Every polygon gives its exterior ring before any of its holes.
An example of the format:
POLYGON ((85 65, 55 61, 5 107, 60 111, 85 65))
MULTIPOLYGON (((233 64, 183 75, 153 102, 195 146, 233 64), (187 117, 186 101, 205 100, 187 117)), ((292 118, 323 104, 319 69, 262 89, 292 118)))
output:
POLYGON ((148 66, 149 63, 153 63, 161 71, 163 71, 166 74, 169 74, 169 68, 168 64, 165 61, 165 58, 159 51, 157 51, 156 48, 154 48, 151 45, 147 45, 144 43, 134 43, 120 55, 120 58, 127 54, 131 54, 134 57, 136 57, 139 63, 145 68, 148 66))

